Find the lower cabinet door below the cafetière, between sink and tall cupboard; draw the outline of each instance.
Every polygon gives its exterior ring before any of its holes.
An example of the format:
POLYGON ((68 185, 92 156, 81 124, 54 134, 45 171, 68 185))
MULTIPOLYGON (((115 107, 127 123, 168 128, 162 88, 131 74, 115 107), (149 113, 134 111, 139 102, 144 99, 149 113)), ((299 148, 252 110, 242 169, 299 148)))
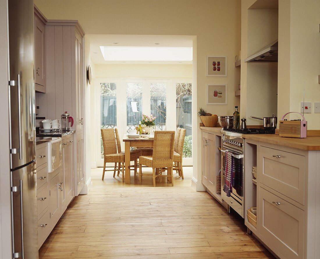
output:
POLYGON ((63 171, 64 171, 64 189, 66 192, 67 206, 74 197, 74 171, 73 171, 73 138, 63 140, 63 171))

